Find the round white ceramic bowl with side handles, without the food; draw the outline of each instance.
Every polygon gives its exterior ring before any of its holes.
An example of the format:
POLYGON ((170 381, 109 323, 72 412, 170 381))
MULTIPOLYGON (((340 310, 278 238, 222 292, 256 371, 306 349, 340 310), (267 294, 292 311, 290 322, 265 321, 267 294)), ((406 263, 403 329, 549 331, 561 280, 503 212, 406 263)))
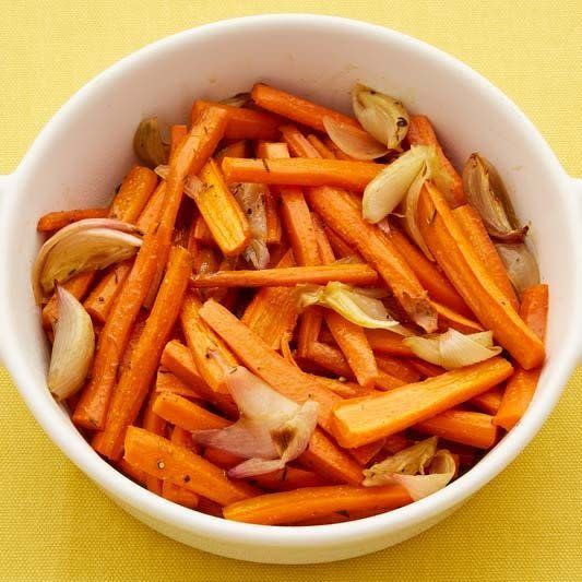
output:
MULTIPOLYGON (((503 470, 554 408, 582 353, 582 182, 566 175, 524 115, 466 66, 424 43, 329 16, 219 22, 155 43, 74 95, 12 176, 0 180, 1 354, 26 404, 58 447, 109 497, 155 530, 197 548, 261 562, 338 560, 402 542, 449 515, 503 470), (548 359, 522 421, 466 475, 412 506, 352 523, 268 527, 170 503, 103 461, 50 396, 47 345, 29 284, 37 218, 103 204, 132 162, 138 121, 188 119, 195 96, 224 98, 262 80, 346 109, 356 81, 404 99, 435 122, 453 162, 478 150, 500 169, 550 285, 548 359)), ((475 524, 478 527, 478 524, 475 524)))

